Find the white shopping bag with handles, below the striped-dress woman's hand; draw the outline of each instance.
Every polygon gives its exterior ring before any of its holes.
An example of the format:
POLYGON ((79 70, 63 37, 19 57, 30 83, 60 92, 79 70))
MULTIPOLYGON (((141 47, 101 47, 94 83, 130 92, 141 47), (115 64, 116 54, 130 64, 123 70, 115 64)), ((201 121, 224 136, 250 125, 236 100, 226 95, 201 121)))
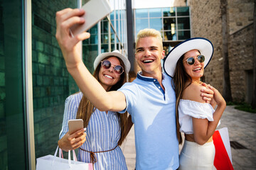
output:
POLYGON ((58 147, 54 155, 46 155, 36 159, 36 170, 92 170, 91 163, 78 162, 73 150, 73 160, 68 151, 68 159, 63 159, 62 150, 59 149, 59 157, 57 157, 58 147), (60 157, 61 155, 61 157, 60 157))

